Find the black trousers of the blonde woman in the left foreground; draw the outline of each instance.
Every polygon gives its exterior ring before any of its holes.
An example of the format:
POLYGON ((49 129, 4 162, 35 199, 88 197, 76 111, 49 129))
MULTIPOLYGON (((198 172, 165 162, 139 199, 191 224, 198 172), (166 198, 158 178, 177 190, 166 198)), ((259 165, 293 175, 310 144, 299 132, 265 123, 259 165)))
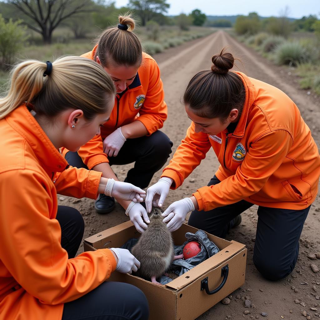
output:
MULTIPOLYGON (((58 206, 57 220, 61 245, 73 258, 82 242, 84 220, 78 210, 67 206, 58 206)), ((65 303, 62 320, 147 320, 148 316, 148 300, 140 289, 121 282, 103 282, 81 298, 65 303)))

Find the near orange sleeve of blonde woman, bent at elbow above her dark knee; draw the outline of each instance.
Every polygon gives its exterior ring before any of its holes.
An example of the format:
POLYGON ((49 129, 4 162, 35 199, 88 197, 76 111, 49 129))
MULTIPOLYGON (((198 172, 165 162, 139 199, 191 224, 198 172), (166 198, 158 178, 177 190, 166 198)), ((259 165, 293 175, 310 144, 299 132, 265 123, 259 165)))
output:
POLYGON ((43 173, 27 169, 0 174, 0 257, 29 294, 55 305, 96 288, 115 270, 116 260, 109 249, 68 259, 49 182, 43 173))

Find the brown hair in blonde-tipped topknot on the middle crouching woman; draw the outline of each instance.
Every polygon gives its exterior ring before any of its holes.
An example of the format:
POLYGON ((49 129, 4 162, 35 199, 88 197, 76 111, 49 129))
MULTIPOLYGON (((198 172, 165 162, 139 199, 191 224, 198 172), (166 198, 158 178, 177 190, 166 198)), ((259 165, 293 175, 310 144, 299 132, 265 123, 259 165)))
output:
POLYGON ((103 31, 98 36, 95 53, 103 67, 110 64, 139 67, 142 61, 142 47, 139 38, 133 33, 135 21, 130 12, 118 16, 119 24, 103 31), (126 26, 126 28, 122 28, 126 26))

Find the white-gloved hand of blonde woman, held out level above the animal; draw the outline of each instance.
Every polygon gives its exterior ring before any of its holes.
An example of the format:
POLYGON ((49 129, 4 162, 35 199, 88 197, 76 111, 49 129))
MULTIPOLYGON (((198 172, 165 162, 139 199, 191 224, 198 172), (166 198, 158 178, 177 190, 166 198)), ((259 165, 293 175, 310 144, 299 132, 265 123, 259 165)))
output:
POLYGON ((114 179, 108 179, 104 194, 133 202, 143 202, 146 197, 146 191, 141 188, 131 183, 115 181, 114 179))

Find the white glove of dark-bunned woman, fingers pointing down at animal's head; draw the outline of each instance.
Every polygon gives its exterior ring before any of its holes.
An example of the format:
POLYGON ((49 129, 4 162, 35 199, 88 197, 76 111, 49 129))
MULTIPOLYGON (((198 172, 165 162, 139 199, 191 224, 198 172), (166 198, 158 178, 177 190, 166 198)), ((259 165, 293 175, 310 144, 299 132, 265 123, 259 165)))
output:
POLYGON ((152 206, 162 207, 172 182, 173 179, 162 177, 158 182, 147 189, 146 207, 149 213, 151 212, 152 206))

